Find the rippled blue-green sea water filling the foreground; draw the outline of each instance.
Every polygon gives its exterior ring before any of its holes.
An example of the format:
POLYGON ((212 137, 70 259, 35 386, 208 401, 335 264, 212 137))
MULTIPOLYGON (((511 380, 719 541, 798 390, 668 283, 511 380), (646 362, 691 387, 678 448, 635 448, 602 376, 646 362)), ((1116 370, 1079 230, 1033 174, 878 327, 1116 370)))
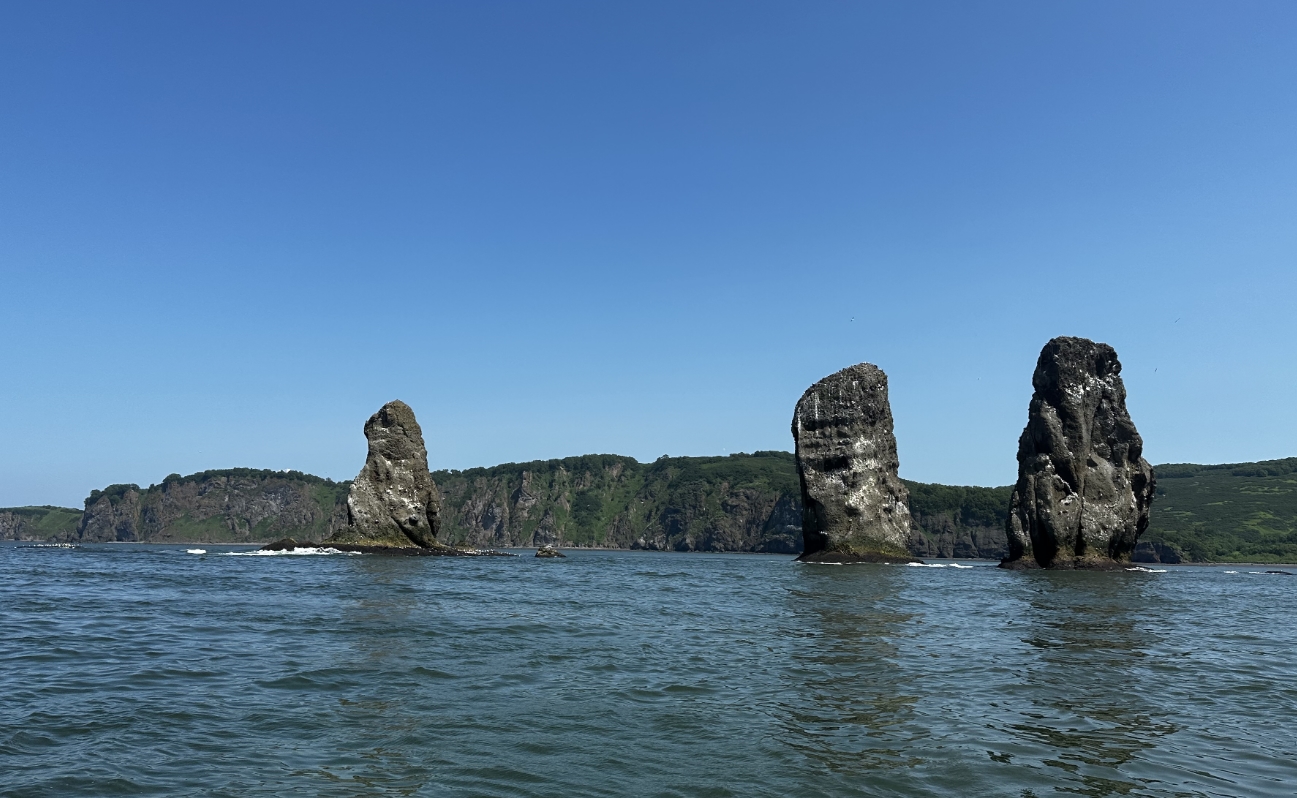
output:
POLYGON ((245 550, 0 545, 0 795, 1297 794, 1268 567, 245 550))

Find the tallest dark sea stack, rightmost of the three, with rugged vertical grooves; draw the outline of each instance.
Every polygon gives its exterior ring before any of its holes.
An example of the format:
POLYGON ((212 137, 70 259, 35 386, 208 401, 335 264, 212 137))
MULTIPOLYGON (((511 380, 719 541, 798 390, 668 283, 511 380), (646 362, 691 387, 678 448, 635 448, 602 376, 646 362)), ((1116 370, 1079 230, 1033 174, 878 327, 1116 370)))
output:
POLYGON ((1009 567, 1128 562, 1156 487, 1126 411, 1122 365, 1108 344, 1057 337, 1031 378, 1009 502, 1009 567))

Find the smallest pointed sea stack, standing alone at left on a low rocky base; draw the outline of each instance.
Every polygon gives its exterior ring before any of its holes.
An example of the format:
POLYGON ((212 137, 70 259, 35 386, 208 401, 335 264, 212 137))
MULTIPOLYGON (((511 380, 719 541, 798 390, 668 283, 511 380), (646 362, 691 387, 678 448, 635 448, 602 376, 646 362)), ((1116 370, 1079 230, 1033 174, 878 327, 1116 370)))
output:
POLYGON ((346 524, 329 542, 446 548, 437 542, 441 497, 414 410, 388 402, 364 423, 370 454, 346 497, 346 524))

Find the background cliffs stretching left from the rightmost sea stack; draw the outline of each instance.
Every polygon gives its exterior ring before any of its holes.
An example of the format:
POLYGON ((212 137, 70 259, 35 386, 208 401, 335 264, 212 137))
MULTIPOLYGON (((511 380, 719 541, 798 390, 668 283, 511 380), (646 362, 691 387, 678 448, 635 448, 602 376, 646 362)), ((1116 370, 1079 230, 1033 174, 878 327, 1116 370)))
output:
MULTIPOLYGON (((440 540, 445 544, 802 550, 796 463, 787 452, 669 457, 652 463, 591 454, 432 476, 440 485, 440 540)), ((27 524, 22 535, 73 542, 319 541, 346 526, 348 487, 305 474, 250 468, 173 475, 150 488, 96 490, 84 514, 64 510, 45 523, 48 529, 27 524)), ((907 487, 914 519, 912 554, 1004 555, 1009 488, 907 487)), ((4 529, 0 526, 0 536, 4 529)))

